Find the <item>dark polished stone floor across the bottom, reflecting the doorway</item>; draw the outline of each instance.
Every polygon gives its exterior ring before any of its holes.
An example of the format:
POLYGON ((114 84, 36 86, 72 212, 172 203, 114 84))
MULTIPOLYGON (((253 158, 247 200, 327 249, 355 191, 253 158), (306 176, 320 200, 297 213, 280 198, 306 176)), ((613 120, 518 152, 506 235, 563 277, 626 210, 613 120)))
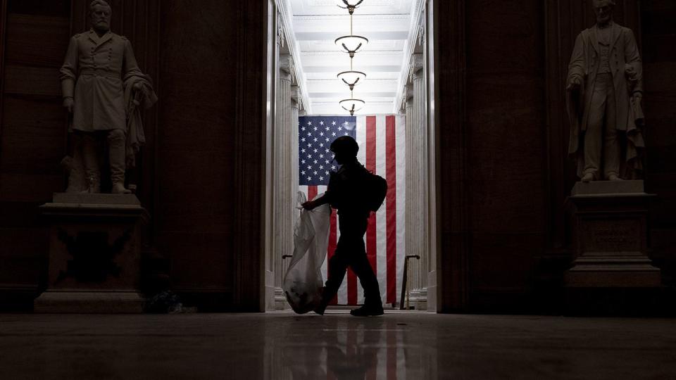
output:
POLYGON ((676 379, 676 319, 0 315, 0 379, 676 379))

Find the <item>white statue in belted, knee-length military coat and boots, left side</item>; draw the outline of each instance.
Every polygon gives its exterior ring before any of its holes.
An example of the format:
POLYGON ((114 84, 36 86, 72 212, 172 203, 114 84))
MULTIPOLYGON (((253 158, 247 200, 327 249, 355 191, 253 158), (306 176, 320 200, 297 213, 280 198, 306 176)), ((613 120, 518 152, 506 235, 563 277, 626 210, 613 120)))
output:
POLYGON ((157 101, 132 44, 111 32, 111 13, 106 1, 92 1, 92 29, 71 37, 61 67, 63 106, 73 116, 74 153, 62 161, 70 171, 66 192, 101 192, 99 161, 107 153, 111 193, 129 194, 125 170, 145 142, 140 108, 157 101))

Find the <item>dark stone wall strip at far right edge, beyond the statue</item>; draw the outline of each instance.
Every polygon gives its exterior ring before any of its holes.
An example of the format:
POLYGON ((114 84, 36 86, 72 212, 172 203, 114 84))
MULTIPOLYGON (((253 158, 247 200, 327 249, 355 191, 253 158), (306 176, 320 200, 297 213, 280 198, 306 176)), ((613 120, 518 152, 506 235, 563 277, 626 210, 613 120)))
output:
POLYGON ((652 203, 650 243, 653 258, 676 284, 676 4, 641 1, 641 40, 645 77, 647 175, 652 203))

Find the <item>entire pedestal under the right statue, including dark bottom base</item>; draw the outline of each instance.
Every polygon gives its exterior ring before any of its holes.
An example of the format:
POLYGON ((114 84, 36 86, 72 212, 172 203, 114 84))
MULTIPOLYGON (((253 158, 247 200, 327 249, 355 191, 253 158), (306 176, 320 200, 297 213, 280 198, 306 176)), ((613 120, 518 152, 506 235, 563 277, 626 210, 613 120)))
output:
POLYGON ((660 270, 647 255, 652 197, 643 181, 575 184, 568 198, 575 249, 565 273, 568 310, 625 314, 661 291, 660 270))

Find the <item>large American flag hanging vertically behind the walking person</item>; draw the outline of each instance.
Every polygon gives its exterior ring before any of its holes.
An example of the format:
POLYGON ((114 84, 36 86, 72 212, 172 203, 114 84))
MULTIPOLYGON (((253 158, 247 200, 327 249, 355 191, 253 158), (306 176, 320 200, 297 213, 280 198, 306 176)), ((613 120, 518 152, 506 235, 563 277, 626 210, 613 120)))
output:
MULTIPOLYGON (((404 205, 406 158, 404 156, 404 116, 301 116, 299 117, 299 190, 314 198, 326 191, 330 172, 338 170, 329 149, 341 136, 351 136, 359 144, 357 158, 367 170, 387 180, 387 198, 372 213, 364 236, 366 255, 380 284, 384 303, 399 302, 403 270, 404 205)), ((322 267, 326 280, 327 262, 333 255, 340 231, 336 213, 331 214, 327 260, 322 267)), ((363 303, 363 289, 351 270, 347 272, 332 304, 363 303)))

